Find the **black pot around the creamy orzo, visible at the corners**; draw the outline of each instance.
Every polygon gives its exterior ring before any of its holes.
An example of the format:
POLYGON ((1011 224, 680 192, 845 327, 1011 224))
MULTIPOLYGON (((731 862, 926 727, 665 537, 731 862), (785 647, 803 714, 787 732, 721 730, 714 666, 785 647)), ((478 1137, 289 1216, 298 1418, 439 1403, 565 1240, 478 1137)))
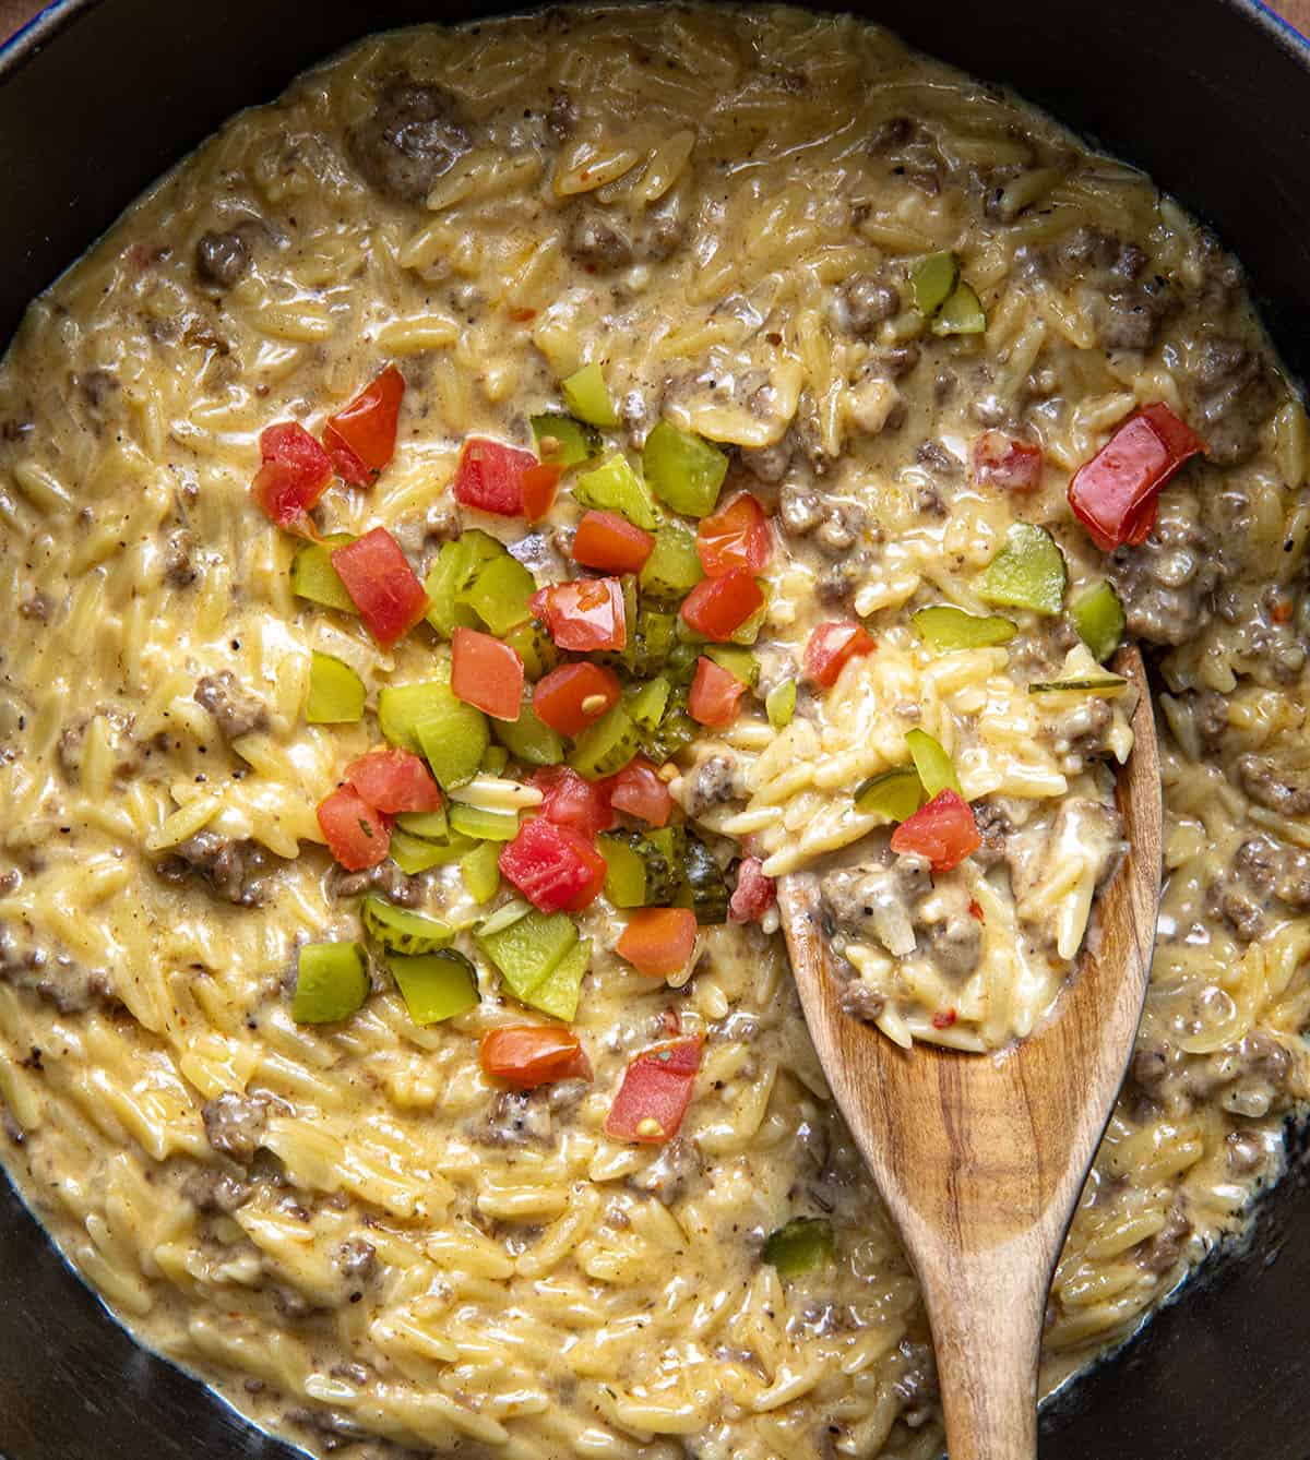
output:
MULTIPOLYGON (((844 6, 846 7, 846 6, 844 6)), ((1250 270, 1310 362, 1310 47, 1252 0, 851 3, 1139 164, 1250 270)), ((60 0, 0 53, 0 340, 28 299, 225 117, 368 31, 494 6, 60 0)), ((6 1140, 0 1134, 0 1140, 6 1140)), ((1294 1134, 1288 1140, 1300 1148, 1294 1134)), ((1237 1253, 1047 1407, 1044 1460, 1306 1460, 1310 1183, 1300 1149, 1237 1253), (1291 1237, 1285 1234, 1292 1234, 1291 1237)), ((139 1349, 0 1178, 0 1460, 291 1460, 139 1349)), ((564 1457, 561 1457, 564 1460, 564 1457)))

